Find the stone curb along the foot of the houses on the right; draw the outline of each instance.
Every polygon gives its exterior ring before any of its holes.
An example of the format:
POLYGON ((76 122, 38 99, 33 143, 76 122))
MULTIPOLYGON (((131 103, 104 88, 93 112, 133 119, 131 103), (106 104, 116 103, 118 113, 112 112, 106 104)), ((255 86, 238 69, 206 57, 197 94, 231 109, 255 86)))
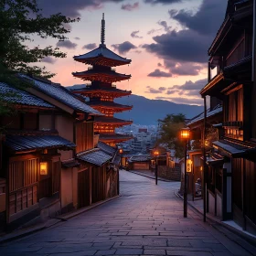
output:
MULTIPOLYGON (((175 195, 176 195, 176 197, 179 197, 180 199, 183 199, 183 197, 182 197, 181 195, 179 195, 177 192, 175 192, 175 195)), ((189 201, 187 201, 187 204, 188 204, 191 208, 194 208, 195 210, 197 210, 197 212, 203 216, 204 213, 203 213, 202 210, 200 210, 200 209, 196 208, 195 206, 193 206, 192 204, 190 204, 189 201)), ((211 216, 209 216, 208 214, 207 214, 207 219, 218 223, 219 225, 221 225, 222 227, 224 227, 224 228, 226 228, 226 229, 229 229, 229 231, 231 231, 231 232, 235 233, 236 235, 242 237, 244 240, 249 241, 250 243, 254 244, 254 246, 255 246, 255 244, 256 244, 256 238, 254 238, 254 237, 251 236, 250 234, 246 234, 246 233, 240 231, 239 229, 236 229, 236 228, 234 228, 234 227, 232 227, 232 226, 229 226, 228 224, 222 222, 222 221, 219 220, 219 219, 216 219, 216 218, 214 218, 214 217, 211 217, 211 216)), ((214 226, 212 226, 212 227, 213 227, 214 229, 217 229, 217 228, 215 228, 214 226)))

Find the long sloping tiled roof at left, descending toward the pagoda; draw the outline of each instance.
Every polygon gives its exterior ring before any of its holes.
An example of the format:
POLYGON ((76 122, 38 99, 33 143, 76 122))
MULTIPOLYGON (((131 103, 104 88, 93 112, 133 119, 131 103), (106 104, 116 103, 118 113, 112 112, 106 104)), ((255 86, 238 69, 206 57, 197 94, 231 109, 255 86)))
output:
POLYGON ((20 75, 22 78, 27 80, 32 80, 34 82, 35 87, 37 90, 42 91, 43 93, 47 94, 48 96, 60 101, 72 109, 78 112, 86 112, 91 115, 102 115, 101 112, 94 110, 86 103, 78 100, 72 93, 64 88, 63 86, 56 84, 56 83, 48 83, 41 80, 32 79, 26 75, 20 75))

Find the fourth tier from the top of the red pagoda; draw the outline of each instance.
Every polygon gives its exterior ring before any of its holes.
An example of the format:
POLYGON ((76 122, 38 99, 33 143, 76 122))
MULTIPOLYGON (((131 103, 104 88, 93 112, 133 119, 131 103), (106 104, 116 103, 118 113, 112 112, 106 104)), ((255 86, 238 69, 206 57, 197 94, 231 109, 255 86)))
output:
POLYGON ((124 112, 133 109, 133 106, 122 105, 115 103, 113 101, 89 101, 87 102, 88 105, 93 107, 99 112, 105 113, 106 112, 124 112))

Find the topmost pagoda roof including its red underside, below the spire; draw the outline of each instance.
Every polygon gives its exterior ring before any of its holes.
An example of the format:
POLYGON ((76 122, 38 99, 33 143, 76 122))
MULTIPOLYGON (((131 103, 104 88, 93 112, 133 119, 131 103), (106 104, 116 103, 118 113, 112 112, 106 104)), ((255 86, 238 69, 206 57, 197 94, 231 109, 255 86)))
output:
POLYGON ((123 58, 116 53, 112 52, 109 48, 106 48, 105 45, 100 45, 99 48, 95 48, 88 53, 74 56, 74 60, 89 64, 89 65, 100 65, 115 67, 131 63, 131 59, 123 58))

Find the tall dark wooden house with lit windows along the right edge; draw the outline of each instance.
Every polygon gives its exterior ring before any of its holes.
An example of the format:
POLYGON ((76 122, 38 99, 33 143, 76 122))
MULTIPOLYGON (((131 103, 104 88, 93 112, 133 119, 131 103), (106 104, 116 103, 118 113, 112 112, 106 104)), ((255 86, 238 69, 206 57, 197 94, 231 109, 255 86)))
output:
POLYGON ((223 101, 223 135, 213 143, 218 157, 209 159, 211 165, 216 165, 218 176, 208 174, 208 188, 219 186, 221 190, 222 219, 234 219, 243 229, 254 233, 255 17, 252 0, 229 0, 225 20, 208 49, 208 84, 200 91, 202 97, 209 95, 223 101), (217 71, 214 77, 212 69, 217 71))

